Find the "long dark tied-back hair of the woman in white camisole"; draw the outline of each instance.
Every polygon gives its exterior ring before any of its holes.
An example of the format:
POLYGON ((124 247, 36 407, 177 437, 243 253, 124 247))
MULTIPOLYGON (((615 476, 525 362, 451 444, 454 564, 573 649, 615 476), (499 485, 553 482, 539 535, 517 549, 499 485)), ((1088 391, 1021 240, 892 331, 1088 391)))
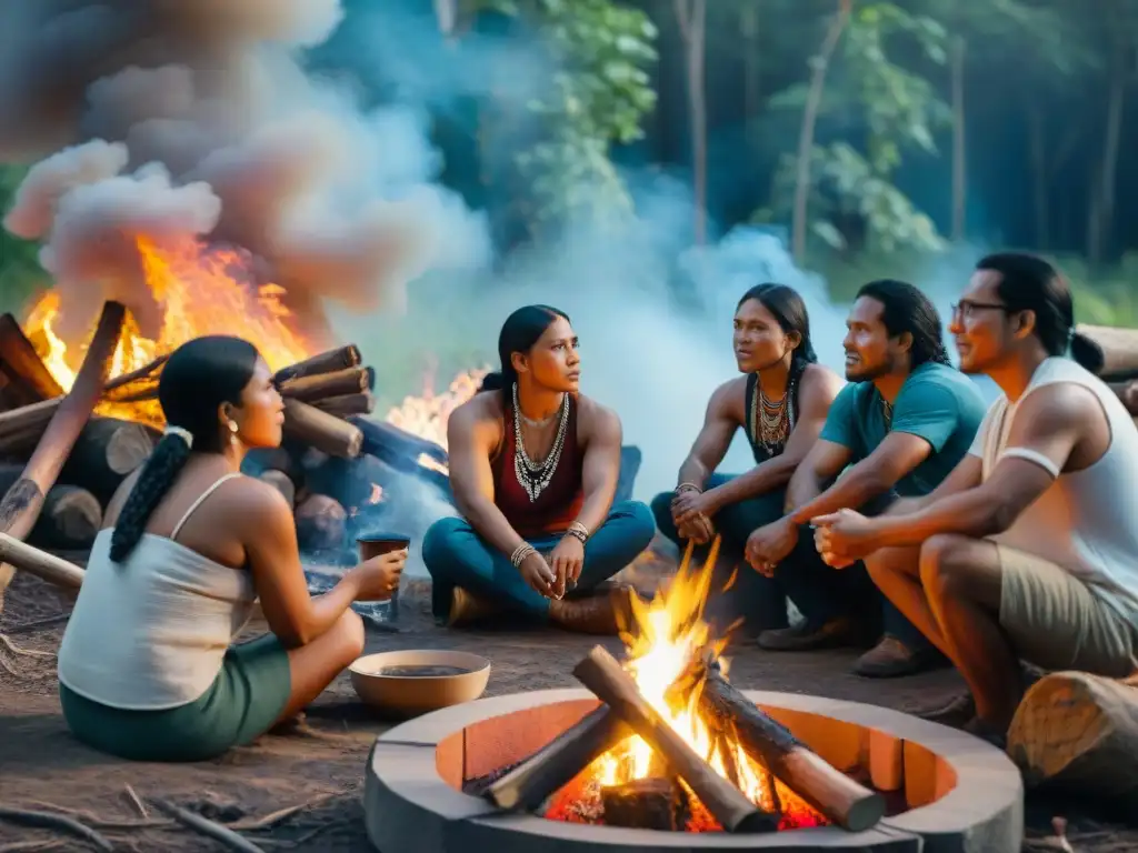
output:
MULTIPOLYGON (((195 338, 170 356, 158 380, 158 403, 170 426, 193 437, 195 452, 221 452, 224 439, 217 407, 241 405, 241 392, 253 379, 258 358, 257 348, 247 340, 224 336, 195 338)), ((190 445, 184 438, 167 432, 158 441, 115 522, 113 561, 121 563, 134 550, 150 515, 189 457, 190 445)))

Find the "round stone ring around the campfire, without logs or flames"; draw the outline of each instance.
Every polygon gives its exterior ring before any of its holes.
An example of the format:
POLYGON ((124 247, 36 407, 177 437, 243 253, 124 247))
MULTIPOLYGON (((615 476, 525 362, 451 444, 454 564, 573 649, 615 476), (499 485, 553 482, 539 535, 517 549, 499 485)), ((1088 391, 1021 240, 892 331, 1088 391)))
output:
POLYGON ((368 757, 368 836, 381 853, 1020 850, 1023 782, 996 747, 884 707, 790 693, 745 693, 834 767, 867 768, 879 789, 889 789, 888 779, 893 789, 904 787, 909 810, 864 833, 818 827, 766 835, 694 834, 504 813, 463 794, 464 780, 523 759, 597 705, 587 690, 538 690, 436 711, 381 735, 368 757), (885 780, 884 787, 879 780, 885 780))

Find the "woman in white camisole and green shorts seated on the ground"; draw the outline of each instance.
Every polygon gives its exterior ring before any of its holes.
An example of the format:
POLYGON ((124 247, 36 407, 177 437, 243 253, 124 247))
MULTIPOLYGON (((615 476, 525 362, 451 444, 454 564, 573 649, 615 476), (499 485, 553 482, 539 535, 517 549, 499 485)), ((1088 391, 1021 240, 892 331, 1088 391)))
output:
POLYGON ((283 405, 256 348, 198 338, 158 384, 166 434, 107 507, 59 649, 74 735, 138 761, 201 761, 312 702, 363 649, 355 601, 384 598, 406 552, 308 596, 292 514, 240 474, 281 440, 283 405), (272 633, 231 645, 259 597, 272 633))

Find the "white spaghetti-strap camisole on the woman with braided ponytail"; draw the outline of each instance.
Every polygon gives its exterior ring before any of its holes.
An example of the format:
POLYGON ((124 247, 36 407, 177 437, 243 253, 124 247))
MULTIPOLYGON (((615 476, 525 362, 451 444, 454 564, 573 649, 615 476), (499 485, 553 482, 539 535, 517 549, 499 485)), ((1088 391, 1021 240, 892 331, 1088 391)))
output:
POLYGON ((143 533, 123 563, 110 560, 113 529, 99 532, 59 647, 59 680, 110 707, 162 711, 199 698, 225 649, 249 621, 256 593, 247 571, 179 545, 193 502, 170 538, 143 533))

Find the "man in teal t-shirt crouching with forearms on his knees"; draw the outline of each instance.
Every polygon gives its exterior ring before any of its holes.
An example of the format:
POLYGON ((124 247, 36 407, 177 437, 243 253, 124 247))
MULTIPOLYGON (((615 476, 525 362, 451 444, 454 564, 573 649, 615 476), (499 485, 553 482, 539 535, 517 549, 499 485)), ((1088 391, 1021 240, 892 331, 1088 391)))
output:
POLYGON ((937 309, 912 284, 866 284, 847 326, 851 384, 838 395, 787 487, 787 514, 751 535, 747 558, 758 571, 777 574, 806 618, 764 632, 760 646, 843 645, 855 641, 866 618, 876 627, 880 614, 883 636, 855 671, 887 678, 943 657, 877 591, 864 564, 831 569, 802 527, 838 510, 881 512, 898 497, 930 494, 967 454, 987 407, 973 382, 948 364, 937 309))

